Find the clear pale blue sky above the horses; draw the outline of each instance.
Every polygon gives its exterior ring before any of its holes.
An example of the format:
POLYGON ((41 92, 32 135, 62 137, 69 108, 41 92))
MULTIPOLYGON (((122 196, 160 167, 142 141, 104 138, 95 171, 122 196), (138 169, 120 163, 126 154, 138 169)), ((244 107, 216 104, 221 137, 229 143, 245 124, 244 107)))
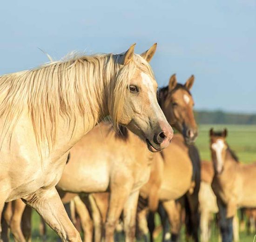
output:
POLYGON ((256 113, 256 0, 13 0, 1 3, 0 74, 72 50, 120 53, 157 42, 159 86, 195 75, 197 109, 256 113))

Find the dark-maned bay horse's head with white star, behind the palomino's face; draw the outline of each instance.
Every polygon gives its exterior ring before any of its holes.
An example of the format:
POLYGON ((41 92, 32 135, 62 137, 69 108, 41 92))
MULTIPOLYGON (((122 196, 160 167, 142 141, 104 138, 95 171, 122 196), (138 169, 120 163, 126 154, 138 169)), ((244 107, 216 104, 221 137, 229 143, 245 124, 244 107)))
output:
POLYGON ((186 143, 192 143, 197 137, 197 125, 193 113, 194 101, 190 89, 194 83, 192 75, 182 85, 172 75, 168 87, 159 91, 159 103, 168 122, 182 133, 186 143))

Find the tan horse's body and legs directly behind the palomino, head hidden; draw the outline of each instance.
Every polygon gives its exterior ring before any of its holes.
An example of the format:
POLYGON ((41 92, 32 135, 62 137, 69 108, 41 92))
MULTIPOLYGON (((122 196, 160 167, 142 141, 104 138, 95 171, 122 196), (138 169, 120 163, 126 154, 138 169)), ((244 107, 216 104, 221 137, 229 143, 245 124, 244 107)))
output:
MULTIPOLYGON (((182 89, 182 85, 180 88, 182 89)), ((166 102, 162 101, 162 103, 165 105, 169 101, 169 98, 166 98, 166 102)), ((170 110, 166 109, 166 112, 170 110)), ((180 114, 181 117, 182 115, 186 116, 186 113, 180 114)), ((106 241, 113 239, 115 223, 125 204, 127 204, 125 211, 128 213, 125 220, 126 234, 128 239, 132 240, 135 232, 135 208, 139 188, 148 181, 153 153, 148 151, 141 139, 126 128, 120 126, 120 132, 115 132, 112 125, 102 123, 82 137, 69 154, 70 159, 57 185, 61 196, 64 191, 91 193, 110 189, 111 196, 105 228, 106 241)), ((77 206, 81 205, 77 198, 75 202, 77 206)), ((81 206, 79 208, 83 211, 86 209, 81 206)), ((20 215, 19 218, 13 215, 16 218, 14 221, 20 221, 22 211, 16 214, 20 215)), ((83 221, 88 220, 83 219, 83 221)), ((16 237, 21 238, 21 229, 17 226, 16 229, 14 226, 11 227, 16 237)), ((84 239, 90 241, 92 235, 85 234, 84 239)))

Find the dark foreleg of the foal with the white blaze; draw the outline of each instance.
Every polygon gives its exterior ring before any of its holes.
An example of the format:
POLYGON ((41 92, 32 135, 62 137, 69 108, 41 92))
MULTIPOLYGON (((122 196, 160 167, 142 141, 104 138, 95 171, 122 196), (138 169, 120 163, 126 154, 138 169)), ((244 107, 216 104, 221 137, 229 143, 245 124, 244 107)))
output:
POLYGON ((233 241, 233 217, 227 218, 227 207, 226 205, 217 198, 217 204, 219 208, 219 226, 222 235, 222 242, 233 241))

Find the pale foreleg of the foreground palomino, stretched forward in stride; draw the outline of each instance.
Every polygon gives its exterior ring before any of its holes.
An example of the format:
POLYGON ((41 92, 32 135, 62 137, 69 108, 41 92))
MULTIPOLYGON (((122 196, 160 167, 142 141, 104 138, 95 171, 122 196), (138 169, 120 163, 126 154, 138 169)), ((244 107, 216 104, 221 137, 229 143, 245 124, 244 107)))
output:
POLYGON ((23 199, 43 217, 62 241, 81 242, 81 237, 70 221, 55 187, 39 189, 23 199))

